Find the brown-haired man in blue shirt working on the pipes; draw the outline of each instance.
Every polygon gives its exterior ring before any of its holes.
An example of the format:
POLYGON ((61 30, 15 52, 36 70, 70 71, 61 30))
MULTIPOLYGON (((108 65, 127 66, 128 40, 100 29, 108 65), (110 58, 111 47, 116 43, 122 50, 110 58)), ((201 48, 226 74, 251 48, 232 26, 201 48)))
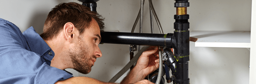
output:
MULTIPOLYGON (((23 34, 19 28, 0 19, 0 83, 1 84, 111 84, 89 77, 73 77, 66 68, 80 73, 91 71, 96 58, 102 56, 98 47, 104 28, 101 16, 88 7, 70 2, 50 11, 43 34, 33 27, 23 34)), ((157 47, 143 52, 137 65, 121 84, 151 83, 143 80, 158 65, 157 47)))

